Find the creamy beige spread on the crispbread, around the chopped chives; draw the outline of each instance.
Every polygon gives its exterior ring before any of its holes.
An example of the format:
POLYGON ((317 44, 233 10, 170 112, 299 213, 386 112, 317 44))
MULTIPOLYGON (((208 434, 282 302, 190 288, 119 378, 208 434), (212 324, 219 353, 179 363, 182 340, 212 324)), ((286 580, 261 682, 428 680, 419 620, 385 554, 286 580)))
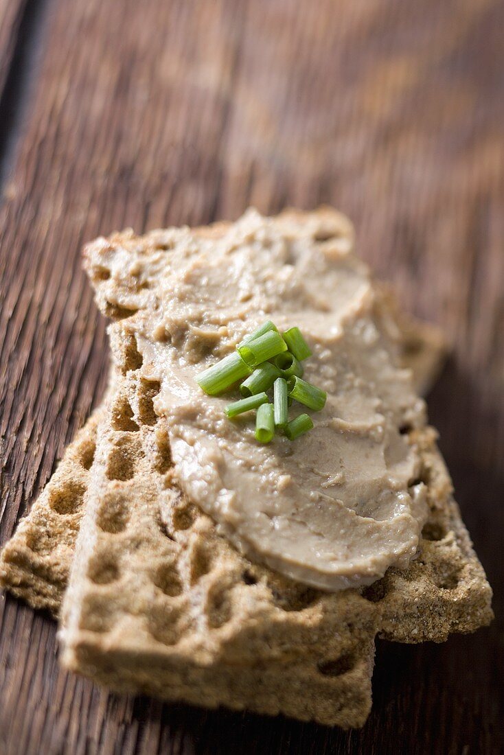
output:
POLYGON ((425 405, 348 246, 309 227, 289 236, 249 211, 218 239, 174 232, 169 251, 129 271, 155 286, 135 328, 144 377, 161 384, 154 408, 181 489, 246 556, 323 590, 406 565, 427 515, 419 453, 401 433, 425 424, 425 405), (303 379, 326 402, 299 407, 308 433, 264 445, 249 414, 227 418, 236 389, 210 396, 196 380, 267 320, 301 330, 312 355, 303 379))

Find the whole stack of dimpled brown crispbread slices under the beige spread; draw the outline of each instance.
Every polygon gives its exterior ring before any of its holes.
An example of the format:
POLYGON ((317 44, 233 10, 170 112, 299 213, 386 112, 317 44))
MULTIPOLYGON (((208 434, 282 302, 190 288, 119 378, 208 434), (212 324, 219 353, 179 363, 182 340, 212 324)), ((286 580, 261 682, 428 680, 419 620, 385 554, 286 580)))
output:
MULTIPOLYGON (((326 208, 269 222, 289 237, 353 244, 348 221, 326 208)), ((159 384, 146 380, 136 342, 135 313, 155 306, 156 279, 135 277, 135 261, 155 258, 162 276, 174 239, 228 230, 128 231, 88 246, 97 303, 113 321, 110 389, 5 546, 0 581, 60 615, 63 664, 113 689, 360 726, 376 634, 416 643, 473 631, 491 619, 490 586, 428 427, 410 431, 430 512, 419 556, 365 589, 323 593, 249 562, 184 498, 153 410, 159 384)), ((383 328, 425 387, 442 341, 380 297, 383 328)))

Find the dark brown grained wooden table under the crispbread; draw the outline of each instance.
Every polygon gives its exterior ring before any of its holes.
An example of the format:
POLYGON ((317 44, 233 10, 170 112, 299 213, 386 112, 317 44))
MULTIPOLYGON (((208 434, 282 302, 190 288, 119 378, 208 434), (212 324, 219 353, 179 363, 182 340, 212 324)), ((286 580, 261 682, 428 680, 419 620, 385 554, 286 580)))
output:
POLYGON ((452 341, 430 417, 497 614, 379 643, 345 733, 107 695, 2 597, 2 755, 504 751, 502 29, 499 0, 0 0, 0 543, 104 389, 82 242, 329 202, 452 341))

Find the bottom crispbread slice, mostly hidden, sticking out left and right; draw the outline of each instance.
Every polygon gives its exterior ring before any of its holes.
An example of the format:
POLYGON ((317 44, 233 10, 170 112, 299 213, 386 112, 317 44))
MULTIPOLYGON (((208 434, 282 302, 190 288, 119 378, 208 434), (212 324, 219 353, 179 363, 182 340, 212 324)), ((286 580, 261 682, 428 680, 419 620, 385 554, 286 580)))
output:
MULTIPOLYGON (((286 220, 301 216, 298 211, 285 211, 282 217, 286 220)), ((334 233, 336 226, 342 236, 342 244, 348 242, 350 246, 353 245, 354 230, 347 218, 330 208, 322 208, 316 217, 319 218, 317 233, 321 238, 334 233)), ((196 233, 218 238, 229 227, 230 223, 214 223, 210 227, 196 229, 196 233)), ((130 234, 127 235, 129 238, 130 234)), ((95 275, 106 276, 107 272, 97 270, 95 275)), ((425 393, 433 384, 444 360, 444 337, 438 328, 402 313, 391 291, 383 285, 380 288, 388 331, 397 342, 400 362, 413 371, 413 381, 419 393, 425 393)), ((57 473, 0 553, 0 585, 25 599, 34 608, 47 608, 55 616, 60 609, 79 531, 82 491, 84 489, 85 496, 88 484, 89 470, 82 464, 79 449, 94 447, 96 425, 95 413, 66 448, 57 473), (69 501, 68 507, 73 510, 71 516, 57 516, 51 508, 51 499, 56 492, 69 501)))

